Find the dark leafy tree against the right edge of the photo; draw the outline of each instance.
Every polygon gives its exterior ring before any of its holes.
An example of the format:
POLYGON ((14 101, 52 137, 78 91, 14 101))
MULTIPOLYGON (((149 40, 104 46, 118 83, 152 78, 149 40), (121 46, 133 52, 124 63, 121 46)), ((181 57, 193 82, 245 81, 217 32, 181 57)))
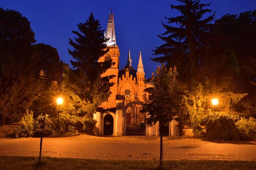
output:
POLYGON ((256 10, 226 14, 215 21, 214 31, 221 34, 222 46, 233 52, 231 64, 235 68, 230 90, 248 93, 240 106, 235 106, 245 116, 256 116, 256 10))

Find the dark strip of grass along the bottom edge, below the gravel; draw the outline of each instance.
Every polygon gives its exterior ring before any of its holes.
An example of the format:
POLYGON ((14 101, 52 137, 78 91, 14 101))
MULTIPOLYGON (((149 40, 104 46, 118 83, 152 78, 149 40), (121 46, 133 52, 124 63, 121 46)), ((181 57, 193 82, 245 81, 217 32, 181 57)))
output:
MULTIPOLYGON (((157 170, 159 162, 0 156, 0 170, 157 170)), ((256 170, 256 161, 164 161, 166 170, 256 170)))

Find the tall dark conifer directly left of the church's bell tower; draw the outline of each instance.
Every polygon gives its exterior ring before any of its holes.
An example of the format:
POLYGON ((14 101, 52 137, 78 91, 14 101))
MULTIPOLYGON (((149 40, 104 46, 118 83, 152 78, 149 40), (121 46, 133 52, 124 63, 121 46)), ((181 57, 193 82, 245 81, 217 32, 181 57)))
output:
POLYGON ((108 77, 101 77, 114 64, 112 60, 98 62, 98 59, 108 53, 105 42, 104 30, 101 30, 99 20, 95 20, 93 13, 85 23, 78 24, 79 31, 72 31, 76 37, 70 39, 73 50, 68 49, 73 70, 70 72, 70 82, 73 90, 86 103, 87 113, 92 117, 96 108, 102 104, 111 94, 110 87, 113 83, 108 77))

